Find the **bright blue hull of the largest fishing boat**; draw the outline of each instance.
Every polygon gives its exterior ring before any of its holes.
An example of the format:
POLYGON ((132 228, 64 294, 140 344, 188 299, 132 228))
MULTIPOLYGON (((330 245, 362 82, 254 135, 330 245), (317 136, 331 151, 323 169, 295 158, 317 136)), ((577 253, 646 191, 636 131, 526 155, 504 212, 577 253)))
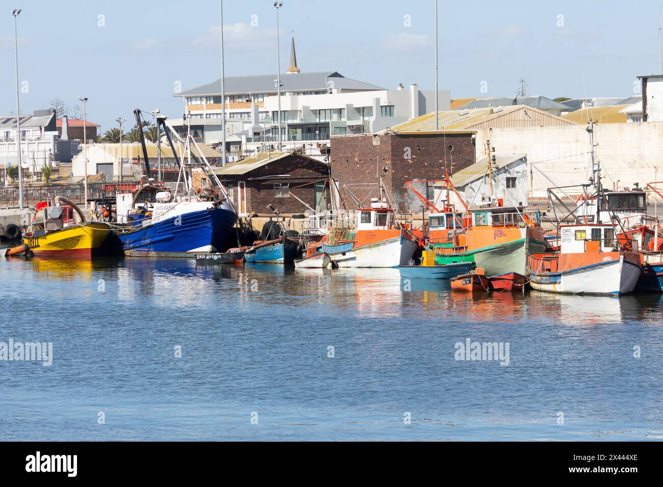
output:
POLYGON ((118 232, 126 256, 194 257, 216 252, 237 221, 234 211, 216 207, 183 213, 118 232))

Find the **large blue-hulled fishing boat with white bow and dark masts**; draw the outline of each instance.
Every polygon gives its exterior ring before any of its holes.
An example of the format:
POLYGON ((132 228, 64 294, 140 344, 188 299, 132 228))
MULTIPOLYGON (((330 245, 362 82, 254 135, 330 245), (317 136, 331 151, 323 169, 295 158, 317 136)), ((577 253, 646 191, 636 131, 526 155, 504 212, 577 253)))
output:
MULTIPOLYGON (((140 110, 134 113, 140 127, 140 110)), ((194 257, 202 252, 223 250, 237 221, 231 198, 190 133, 185 141, 165 120, 160 123, 166 129, 170 148, 180 166, 176 187, 181 189, 170 191, 151 183, 145 136, 139 131, 149 182, 131 193, 117 195, 117 219, 125 227, 115 232, 115 236, 123 253, 127 256, 194 257), (169 129, 182 142, 182 156, 188 154, 188 158, 178 157, 169 129), (197 154, 193 159, 192 152, 197 154), (194 168, 202 170, 213 185, 211 188, 194 188, 191 178, 194 168)))

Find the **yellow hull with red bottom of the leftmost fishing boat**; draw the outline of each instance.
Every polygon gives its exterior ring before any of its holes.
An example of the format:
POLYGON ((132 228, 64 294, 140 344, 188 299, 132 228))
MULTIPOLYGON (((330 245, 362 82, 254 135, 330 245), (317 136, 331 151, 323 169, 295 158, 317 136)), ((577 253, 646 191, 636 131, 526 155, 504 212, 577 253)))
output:
POLYGON ((44 235, 24 237, 35 257, 89 259, 101 255, 101 248, 111 233, 107 223, 90 221, 49 231, 44 235))

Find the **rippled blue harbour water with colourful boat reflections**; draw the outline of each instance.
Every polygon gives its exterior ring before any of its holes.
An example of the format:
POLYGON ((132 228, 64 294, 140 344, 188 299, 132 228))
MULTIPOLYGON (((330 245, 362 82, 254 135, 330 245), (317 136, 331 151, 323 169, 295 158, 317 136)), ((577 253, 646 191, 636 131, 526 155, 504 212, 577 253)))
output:
POLYGON ((0 342, 54 356, 0 361, 3 439, 663 438, 661 296, 407 284, 392 269, 0 258, 0 342), (509 365, 455 360, 467 338, 509 342, 509 365))

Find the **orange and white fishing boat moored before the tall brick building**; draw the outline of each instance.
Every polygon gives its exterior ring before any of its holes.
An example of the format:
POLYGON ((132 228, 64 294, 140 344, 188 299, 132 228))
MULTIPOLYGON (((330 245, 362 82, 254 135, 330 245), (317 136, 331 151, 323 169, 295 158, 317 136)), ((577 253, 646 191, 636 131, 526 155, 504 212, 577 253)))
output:
POLYGON ((322 238, 322 250, 335 268, 398 267, 407 264, 417 248, 415 237, 397 227, 387 201, 371 199, 371 206, 355 211, 352 228, 335 227, 322 238))

